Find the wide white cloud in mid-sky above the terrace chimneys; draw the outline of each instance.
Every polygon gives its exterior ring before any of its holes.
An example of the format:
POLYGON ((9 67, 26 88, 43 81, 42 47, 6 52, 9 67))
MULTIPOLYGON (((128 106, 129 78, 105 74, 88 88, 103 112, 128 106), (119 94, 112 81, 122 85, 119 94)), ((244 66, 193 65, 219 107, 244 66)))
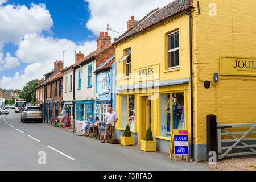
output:
POLYGON ((49 60, 62 60, 63 51, 68 51, 64 55, 64 64, 69 66, 75 63, 75 51, 81 51, 86 55, 96 48, 96 41, 88 41, 77 45, 68 39, 57 39, 49 36, 43 38, 34 33, 26 35, 24 40, 19 42, 16 56, 23 63, 44 63, 49 60))

